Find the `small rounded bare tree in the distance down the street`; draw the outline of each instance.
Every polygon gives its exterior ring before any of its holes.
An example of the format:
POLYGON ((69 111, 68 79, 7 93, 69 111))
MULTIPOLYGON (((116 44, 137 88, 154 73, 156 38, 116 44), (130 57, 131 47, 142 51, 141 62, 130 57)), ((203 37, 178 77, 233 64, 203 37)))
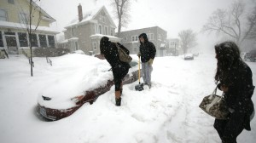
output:
POLYGON ((183 48, 183 53, 186 54, 189 48, 195 47, 196 43, 196 33, 191 29, 183 30, 178 33, 180 37, 181 46, 183 48))

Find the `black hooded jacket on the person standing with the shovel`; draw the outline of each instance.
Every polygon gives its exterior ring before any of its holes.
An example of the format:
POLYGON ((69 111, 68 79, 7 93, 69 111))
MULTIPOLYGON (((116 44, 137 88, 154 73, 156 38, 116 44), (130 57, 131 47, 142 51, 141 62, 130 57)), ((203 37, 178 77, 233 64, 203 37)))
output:
POLYGON ((143 37, 144 43, 140 45, 141 60, 143 63, 148 62, 149 59, 154 60, 156 53, 154 43, 148 41, 147 34, 142 33, 139 37, 143 37))

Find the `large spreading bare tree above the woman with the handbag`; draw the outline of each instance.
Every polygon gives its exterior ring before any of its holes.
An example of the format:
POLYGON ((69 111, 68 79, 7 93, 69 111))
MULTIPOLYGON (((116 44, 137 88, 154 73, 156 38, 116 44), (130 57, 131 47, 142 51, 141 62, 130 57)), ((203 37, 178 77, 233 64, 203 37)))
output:
POLYGON ((203 26, 202 31, 215 31, 217 34, 232 37, 238 45, 246 39, 255 38, 256 10, 248 15, 245 6, 242 1, 236 1, 229 10, 217 9, 203 26))

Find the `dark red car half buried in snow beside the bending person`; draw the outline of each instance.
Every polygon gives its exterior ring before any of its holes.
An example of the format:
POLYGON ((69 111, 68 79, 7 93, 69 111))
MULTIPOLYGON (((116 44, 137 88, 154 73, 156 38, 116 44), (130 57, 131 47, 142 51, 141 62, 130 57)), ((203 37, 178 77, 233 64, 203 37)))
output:
MULTIPOLYGON (((123 80, 123 84, 133 83, 137 81, 138 77, 138 62, 137 60, 132 60, 131 68, 128 72, 128 74, 125 76, 123 80)), ((103 74, 112 75, 111 69, 109 69, 107 72, 104 72, 103 74)), ((89 83, 89 81, 88 81, 89 83)), ((68 117, 73 114, 73 112, 76 112, 79 107, 83 106, 84 103, 90 103, 93 104, 93 102, 96 101, 96 99, 108 92, 110 88, 113 86, 113 77, 109 77, 109 79, 106 79, 105 82, 102 82, 101 86, 93 87, 90 89, 84 90, 84 94, 76 95, 72 98, 63 99, 65 97, 62 97, 61 95, 57 95, 55 97, 49 97, 47 95, 38 95, 38 106, 37 106, 37 114, 39 117, 43 117, 46 120, 49 121, 55 121, 60 120, 61 118, 68 117), (61 99, 61 100, 60 100, 61 99), (61 103, 60 103, 61 102, 61 103), (64 103, 65 102, 65 103, 64 103), (56 105, 63 105, 68 104, 70 105, 68 108, 64 107, 56 107, 56 105)))

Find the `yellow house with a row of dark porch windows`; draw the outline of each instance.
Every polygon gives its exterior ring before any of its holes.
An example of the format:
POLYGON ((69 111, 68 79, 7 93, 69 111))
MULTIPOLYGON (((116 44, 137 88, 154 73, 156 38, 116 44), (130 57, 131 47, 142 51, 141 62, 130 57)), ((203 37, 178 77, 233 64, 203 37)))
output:
POLYGON ((21 49, 55 48, 57 31, 52 30, 49 24, 55 19, 41 9, 37 3, 32 3, 32 29, 38 26, 32 34, 32 42, 26 25, 29 20, 29 0, 1 0, 0 1, 0 49, 9 54, 20 54, 21 49), (39 20, 39 24, 38 24, 39 20))

